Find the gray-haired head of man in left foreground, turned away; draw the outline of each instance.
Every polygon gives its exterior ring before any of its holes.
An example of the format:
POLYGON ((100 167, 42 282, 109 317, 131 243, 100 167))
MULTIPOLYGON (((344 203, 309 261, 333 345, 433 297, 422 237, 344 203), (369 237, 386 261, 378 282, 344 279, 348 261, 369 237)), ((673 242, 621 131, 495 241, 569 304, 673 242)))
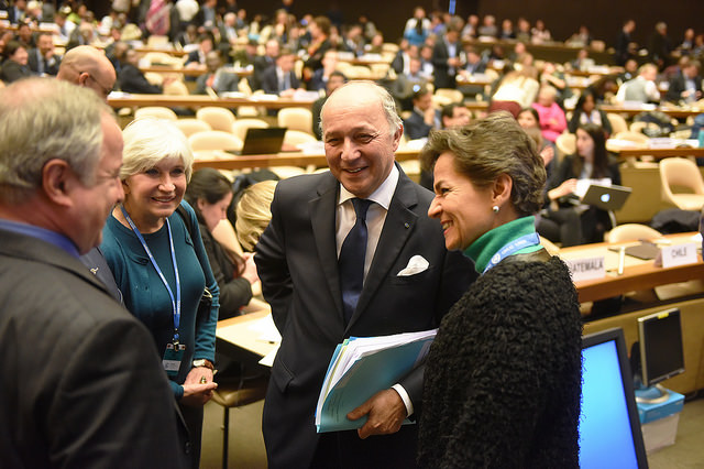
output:
POLYGON ((0 89, 3 218, 59 232, 85 253, 123 197, 121 164, 120 128, 95 92, 51 78, 0 89))

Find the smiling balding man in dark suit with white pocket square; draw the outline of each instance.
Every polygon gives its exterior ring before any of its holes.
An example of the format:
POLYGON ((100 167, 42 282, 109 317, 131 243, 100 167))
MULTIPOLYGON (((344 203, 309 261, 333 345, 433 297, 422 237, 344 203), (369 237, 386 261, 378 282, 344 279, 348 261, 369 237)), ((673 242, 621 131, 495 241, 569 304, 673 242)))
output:
POLYGON ((428 218, 432 194, 394 162, 404 128, 384 88, 338 88, 322 127, 330 172, 279 182, 254 258, 283 336, 264 404, 268 466, 414 467, 416 426, 402 422, 420 410, 422 367, 348 414, 369 417, 358 432, 316 433, 320 386, 339 342, 437 327, 474 273, 428 218), (345 238, 359 225, 369 233, 356 257, 363 265, 343 275, 345 238), (361 291, 351 288, 355 279, 361 291))

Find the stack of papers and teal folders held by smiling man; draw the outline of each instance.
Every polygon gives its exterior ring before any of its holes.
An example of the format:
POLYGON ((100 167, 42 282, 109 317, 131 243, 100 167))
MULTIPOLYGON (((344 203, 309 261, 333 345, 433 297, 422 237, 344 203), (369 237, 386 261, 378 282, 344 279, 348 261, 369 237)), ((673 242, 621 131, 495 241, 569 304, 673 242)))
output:
POLYGON ((338 345, 316 407, 318 433, 355 429, 364 425, 366 417, 350 421, 346 414, 413 371, 426 358, 436 334, 437 329, 350 337, 338 345))

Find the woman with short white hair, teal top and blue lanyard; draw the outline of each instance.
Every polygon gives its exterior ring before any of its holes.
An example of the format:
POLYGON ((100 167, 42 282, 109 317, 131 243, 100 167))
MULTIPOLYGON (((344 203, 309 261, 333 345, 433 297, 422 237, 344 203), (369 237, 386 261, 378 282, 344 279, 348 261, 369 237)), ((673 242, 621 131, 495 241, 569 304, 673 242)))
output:
POLYGON ((217 388, 219 290, 196 214, 183 200, 194 155, 168 121, 138 119, 123 137, 124 200, 106 223, 101 249, 125 307, 154 337, 189 429, 193 466, 198 467, 202 406, 217 388), (205 287, 212 299, 199 309, 205 287))

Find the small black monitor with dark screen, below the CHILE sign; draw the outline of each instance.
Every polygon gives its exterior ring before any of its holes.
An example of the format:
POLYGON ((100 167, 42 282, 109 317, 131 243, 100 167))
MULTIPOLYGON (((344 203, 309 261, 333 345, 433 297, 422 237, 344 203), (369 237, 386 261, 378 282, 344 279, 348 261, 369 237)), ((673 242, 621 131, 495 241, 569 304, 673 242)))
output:
POLYGON ((644 388, 684 372, 680 309, 638 318, 638 342, 631 350, 631 364, 644 388))

